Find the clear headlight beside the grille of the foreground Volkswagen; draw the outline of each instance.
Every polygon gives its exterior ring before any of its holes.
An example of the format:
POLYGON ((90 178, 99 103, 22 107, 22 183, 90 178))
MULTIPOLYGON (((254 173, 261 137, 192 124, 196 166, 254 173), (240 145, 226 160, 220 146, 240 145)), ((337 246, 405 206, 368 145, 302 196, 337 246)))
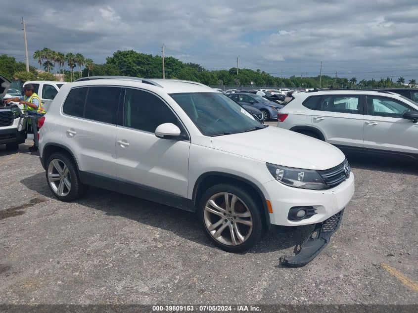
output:
POLYGON ((289 168, 271 163, 266 163, 266 165, 273 177, 287 186, 314 190, 329 188, 317 171, 289 168))

